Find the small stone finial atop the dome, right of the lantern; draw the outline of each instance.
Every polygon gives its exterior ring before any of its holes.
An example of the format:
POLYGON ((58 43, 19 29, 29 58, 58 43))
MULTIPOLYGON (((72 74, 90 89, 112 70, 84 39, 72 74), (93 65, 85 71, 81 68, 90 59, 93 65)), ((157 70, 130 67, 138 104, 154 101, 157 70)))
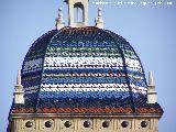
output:
POLYGON ((95 24, 97 28, 103 29, 101 8, 98 8, 98 16, 96 18, 95 22, 96 22, 95 24))

